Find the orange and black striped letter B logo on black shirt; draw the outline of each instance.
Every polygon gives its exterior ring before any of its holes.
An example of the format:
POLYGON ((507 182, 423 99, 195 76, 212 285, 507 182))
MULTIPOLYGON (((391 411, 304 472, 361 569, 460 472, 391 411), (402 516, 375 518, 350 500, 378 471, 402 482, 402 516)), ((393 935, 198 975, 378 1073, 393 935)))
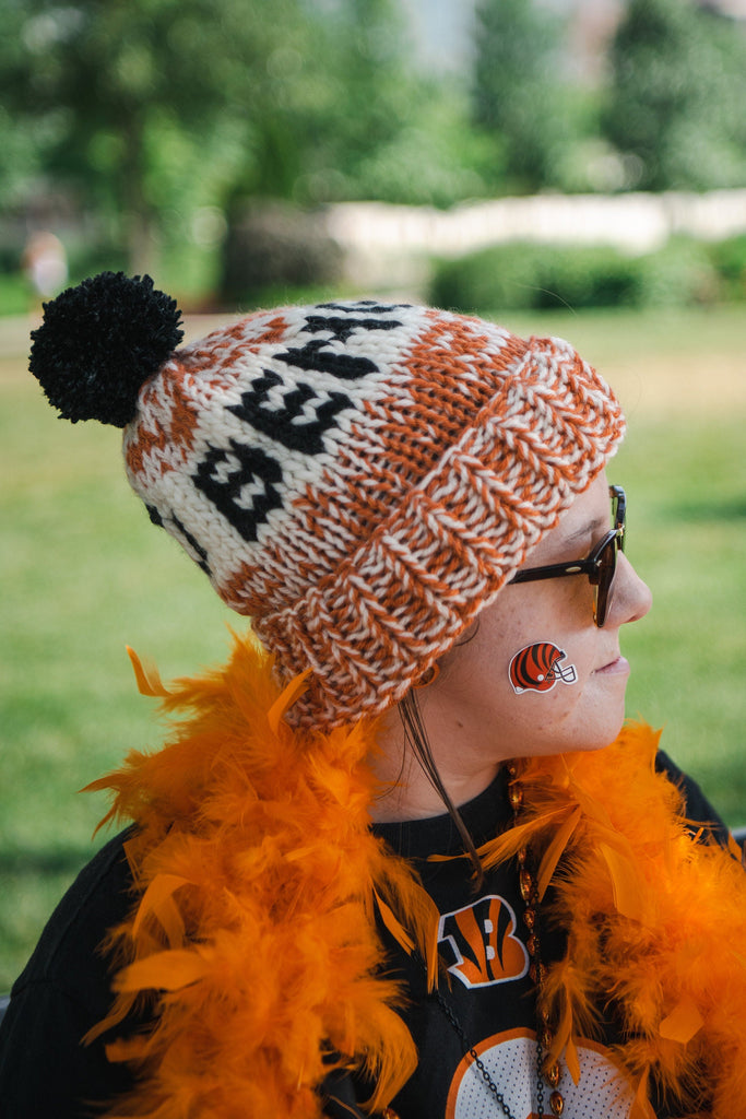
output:
POLYGON ((516 928, 512 906, 504 897, 488 894, 441 916, 438 951, 451 975, 464 987, 521 979, 528 971, 529 958, 516 928))

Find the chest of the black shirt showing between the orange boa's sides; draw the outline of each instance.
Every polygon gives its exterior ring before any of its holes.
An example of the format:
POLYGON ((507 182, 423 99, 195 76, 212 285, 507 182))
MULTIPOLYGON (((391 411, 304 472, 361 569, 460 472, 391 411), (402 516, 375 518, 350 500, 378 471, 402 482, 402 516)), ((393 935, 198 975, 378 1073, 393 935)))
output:
MULTIPOLYGON (((476 846, 509 826, 506 777, 495 781, 461 814, 476 846)), ((428 996, 424 966, 389 943, 412 991, 404 1016, 419 1050, 419 1066, 391 1107, 406 1119, 445 1116, 447 1119, 494 1119, 498 1090, 514 1119, 539 1113, 535 979, 527 947, 531 931, 523 914, 516 862, 490 871, 478 891, 471 864, 463 857, 428 862, 433 852, 457 855, 462 843, 450 818, 379 825, 376 831, 417 867, 435 901, 441 921, 438 955, 450 984, 440 984, 441 997, 428 996), (478 1054, 482 1068, 474 1061, 478 1054), (492 1081, 492 1087, 485 1074, 492 1081)), ((542 961, 564 955, 558 930, 535 929, 542 961)), ((606 1043, 616 1040, 613 1025, 606 1043)), ((583 1087, 565 1071, 557 1085, 568 1115, 582 1116, 582 1101, 593 1101, 591 1116, 622 1119, 630 1109, 629 1089, 611 1064, 604 1047, 579 1050, 583 1087)), ((551 1089, 542 1082, 544 1111, 551 1113, 551 1089)))

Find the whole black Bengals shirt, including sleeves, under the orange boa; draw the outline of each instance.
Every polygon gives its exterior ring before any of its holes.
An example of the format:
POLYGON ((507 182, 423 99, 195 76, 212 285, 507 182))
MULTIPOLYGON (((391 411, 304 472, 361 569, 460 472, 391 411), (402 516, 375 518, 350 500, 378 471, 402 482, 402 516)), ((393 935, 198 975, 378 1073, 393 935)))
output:
MULTIPOLYGON (((674 780, 684 781, 689 817, 714 821, 716 833, 720 833, 723 825, 697 786, 682 779, 665 755, 659 755, 659 764, 674 780)), ((478 845, 500 831, 510 818, 504 782, 499 774, 461 809, 478 845)), ((427 996, 422 963, 383 931, 388 970, 403 975, 410 991, 403 1013, 421 1057, 417 1072, 394 1101, 394 1110, 402 1119, 480 1119, 482 1115, 487 1119, 500 1113, 479 1069, 471 1059, 464 1059, 460 1029, 466 1045, 475 1047, 494 1083, 506 1092, 516 1119, 525 1119, 535 1106, 535 1009, 528 975, 528 932, 522 923, 523 903, 514 865, 495 868, 475 894, 470 864, 463 859, 427 862, 432 853, 460 853, 461 841, 450 817, 377 825, 376 831, 390 847, 413 859, 421 872, 441 913, 440 950, 451 975, 450 987, 443 987, 445 1009, 427 996)), ((101 1037, 88 1046, 81 1044, 83 1035, 105 1017, 111 1004, 111 977, 100 944, 132 904, 122 846, 125 838, 126 833, 116 836, 81 872, 13 986, 0 1026, 3 1119, 94 1116, 102 1102, 131 1087, 129 1069, 106 1059, 104 1045, 108 1038, 101 1037)), ((545 934, 545 958, 555 958, 560 951, 561 934, 545 934)), ((122 1027, 115 1033, 121 1035, 122 1027)), ((607 1040, 613 1040, 611 1023, 607 1040)), ((603 1046, 588 1046, 582 1057, 587 1093, 588 1083, 602 1085, 610 1080, 610 1063, 603 1046)), ((572 1082, 560 1087, 574 1119, 595 1119, 599 1113, 596 1089, 586 1106, 574 1100, 572 1082)), ((616 1115, 626 1115, 629 1106, 624 1110, 624 1103, 613 1102, 624 1099, 618 1084, 608 1091, 612 1099, 604 1116, 615 1119, 616 1115)), ((349 1119, 357 1112, 358 1092, 350 1078, 330 1082, 329 1092, 330 1116, 349 1119)))

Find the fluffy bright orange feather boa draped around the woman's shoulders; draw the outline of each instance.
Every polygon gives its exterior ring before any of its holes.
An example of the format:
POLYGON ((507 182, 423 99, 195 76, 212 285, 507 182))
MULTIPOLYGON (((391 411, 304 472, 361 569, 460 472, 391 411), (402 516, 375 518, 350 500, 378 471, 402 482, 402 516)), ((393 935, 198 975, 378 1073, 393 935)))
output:
MULTIPOLYGON (((251 638, 224 669, 170 690, 132 656, 140 690, 188 717, 163 750, 89 787, 115 793, 102 822, 138 825, 136 905, 105 946, 116 997, 89 1040, 139 1000, 154 1013, 148 1033, 107 1046, 140 1074, 110 1116, 318 1119, 334 1066, 361 1070, 380 1110, 417 1054, 396 1012, 404 993, 381 977, 376 913, 431 984, 437 913, 370 831, 372 727, 292 731, 282 715, 303 680, 281 693, 251 638)), ((485 867, 526 843, 540 854, 569 930, 546 997, 570 1071, 611 996, 631 1038, 618 1053, 636 1085, 631 1119, 654 1119, 653 1075, 687 1115, 725 1119, 746 1093, 746 876, 691 841, 678 791, 654 773, 657 741, 630 727, 596 753, 530 760, 525 822, 481 854, 485 867)))

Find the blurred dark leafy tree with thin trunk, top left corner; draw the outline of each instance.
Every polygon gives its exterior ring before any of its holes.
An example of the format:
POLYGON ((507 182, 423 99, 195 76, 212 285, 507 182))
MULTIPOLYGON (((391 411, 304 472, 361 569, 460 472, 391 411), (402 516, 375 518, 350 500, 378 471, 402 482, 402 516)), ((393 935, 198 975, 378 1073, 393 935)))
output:
POLYGON ((149 264, 164 207, 214 194, 267 94, 265 60, 292 46, 296 0, 0 0, 0 92, 47 173, 126 216, 149 264), (7 44, 8 36, 3 36, 7 44), (182 196, 181 198, 179 196, 182 196))

